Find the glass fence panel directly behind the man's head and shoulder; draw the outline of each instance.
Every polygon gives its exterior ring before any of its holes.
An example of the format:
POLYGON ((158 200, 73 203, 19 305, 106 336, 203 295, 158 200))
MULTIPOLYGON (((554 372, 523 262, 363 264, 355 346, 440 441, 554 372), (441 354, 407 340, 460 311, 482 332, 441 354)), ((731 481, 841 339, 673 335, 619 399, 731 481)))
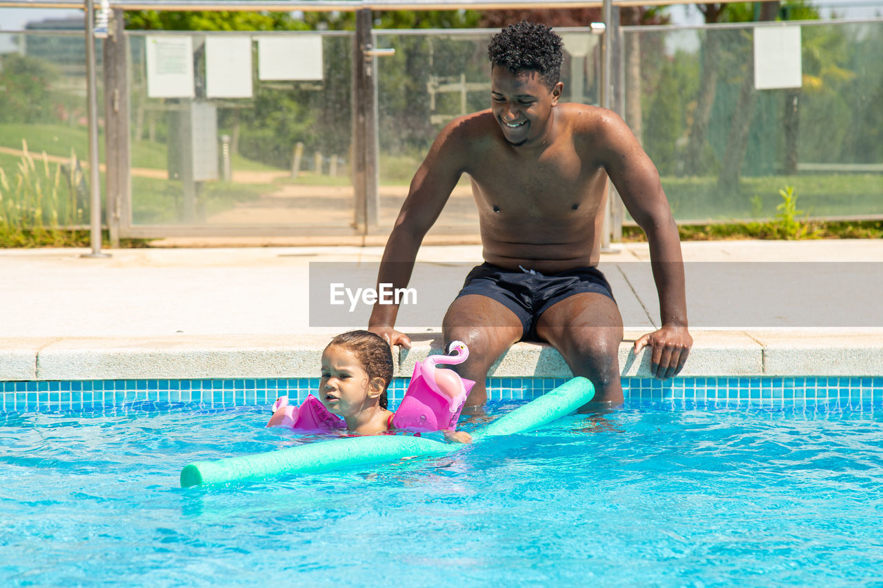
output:
MULTIPOLYGON (((599 37, 588 28, 555 29, 565 43, 562 101, 598 103, 599 37)), ((411 177, 435 136, 456 117, 490 108, 487 44, 497 31, 377 31, 381 227, 391 227, 411 177)), ((468 177, 451 194, 434 230, 475 233, 478 212, 468 177)))

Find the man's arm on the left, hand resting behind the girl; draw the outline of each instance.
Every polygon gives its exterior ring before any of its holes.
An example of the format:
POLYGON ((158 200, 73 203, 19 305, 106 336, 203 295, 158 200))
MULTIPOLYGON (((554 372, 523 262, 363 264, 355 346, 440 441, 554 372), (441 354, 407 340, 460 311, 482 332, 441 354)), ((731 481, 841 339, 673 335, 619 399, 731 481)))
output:
MULTIPOLYGON (((462 138, 467 124, 468 120, 464 119, 448 124, 436 137, 426 159, 414 174, 408 197, 383 250, 377 275, 378 289, 381 283, 404 288, 411 280, 423 237, 442 213, 450 192, 465 170, 468 141, 462 138)), ((410 349, 411 339, 395 328, 397 314, 398 305, 376 303, 368 320, 368 330, 381 335, 390 345, 410 349)))

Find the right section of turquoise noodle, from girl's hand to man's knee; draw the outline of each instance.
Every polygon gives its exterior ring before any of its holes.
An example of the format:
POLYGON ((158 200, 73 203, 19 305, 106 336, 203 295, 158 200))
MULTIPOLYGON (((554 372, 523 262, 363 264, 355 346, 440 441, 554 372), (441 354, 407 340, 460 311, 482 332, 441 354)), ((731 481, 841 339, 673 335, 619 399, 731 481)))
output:
POLYGON ((590 402, 594 396, 595 387, 592 386, 591 381, 583 377, 574 378, 479 428, 472 433, 472 439, 526 433, 539 429, 540 426, 547 425, 556 418, 562 418, 576 411, 583 404, 590 402))

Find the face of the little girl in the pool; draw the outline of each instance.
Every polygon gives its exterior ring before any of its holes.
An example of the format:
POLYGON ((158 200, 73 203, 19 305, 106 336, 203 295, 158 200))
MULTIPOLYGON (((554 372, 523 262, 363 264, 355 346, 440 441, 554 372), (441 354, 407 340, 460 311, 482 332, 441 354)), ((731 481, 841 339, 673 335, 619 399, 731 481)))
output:
POLYGON ((319 400, 328 412, 346 418, 377 402, 383 381, 372 381, 356 355, 343 347, 330 345, 322 353, 319 400))

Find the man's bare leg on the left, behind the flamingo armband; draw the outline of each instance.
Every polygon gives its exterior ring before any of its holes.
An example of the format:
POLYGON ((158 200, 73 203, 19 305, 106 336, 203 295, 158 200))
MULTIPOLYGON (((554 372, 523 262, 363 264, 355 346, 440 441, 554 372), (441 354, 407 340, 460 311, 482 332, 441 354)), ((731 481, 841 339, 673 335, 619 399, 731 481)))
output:
POLYGON ((469 358, 452 367, 464 378, 475 381, 465 410, 487 402, 487 370, 521 339, 523 330, 515 313, 487 296, 467 294, 451 303, 442 322, 445 349, 452 341, 466 343, 469 358))

